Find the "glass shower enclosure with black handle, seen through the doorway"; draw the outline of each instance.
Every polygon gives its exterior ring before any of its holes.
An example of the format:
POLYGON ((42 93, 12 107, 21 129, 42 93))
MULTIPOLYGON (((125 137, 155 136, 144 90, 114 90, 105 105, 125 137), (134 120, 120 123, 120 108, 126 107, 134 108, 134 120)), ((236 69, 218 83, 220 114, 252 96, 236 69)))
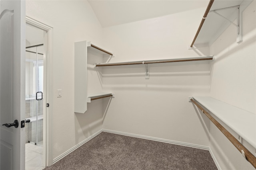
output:
POLYGON ((26 143, 43 142, 44 45, 26 47, 26 143))

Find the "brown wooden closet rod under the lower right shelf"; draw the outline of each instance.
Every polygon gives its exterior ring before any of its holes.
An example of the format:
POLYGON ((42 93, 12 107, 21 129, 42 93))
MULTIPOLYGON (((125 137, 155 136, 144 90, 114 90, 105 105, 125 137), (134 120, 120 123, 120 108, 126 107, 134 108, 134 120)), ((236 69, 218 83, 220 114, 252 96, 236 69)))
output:
POLYGON ((246 160, 248 160, 254 168, 256 168, 256 157, 248 150, 244 145, 242 145, 231 133, 229 133, 216 119, 214 119, 203 107, 201 107, 195 100, 190 99, 202 112, 220 129, 220 131, 228 138, 228 140, 245 155, 246 160))

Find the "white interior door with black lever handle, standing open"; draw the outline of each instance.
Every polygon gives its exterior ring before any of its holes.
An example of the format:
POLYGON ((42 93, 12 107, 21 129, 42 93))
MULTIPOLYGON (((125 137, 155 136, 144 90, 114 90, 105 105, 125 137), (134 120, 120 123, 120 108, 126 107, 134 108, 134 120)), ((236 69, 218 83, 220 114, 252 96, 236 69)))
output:
POLYGON ((25 18, 25 1, 0 0, 1 170, 25 169, 25 18))

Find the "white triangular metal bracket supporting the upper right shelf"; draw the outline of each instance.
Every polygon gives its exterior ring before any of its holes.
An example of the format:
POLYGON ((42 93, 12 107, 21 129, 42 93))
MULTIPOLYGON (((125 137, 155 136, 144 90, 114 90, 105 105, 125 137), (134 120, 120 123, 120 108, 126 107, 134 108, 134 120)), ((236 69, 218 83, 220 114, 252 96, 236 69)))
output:
POLYGON ((231 7, 228 7, 228 8, 221 8, 221 9, 216 9, 216 10, 212 10, 212 11, 209 11, 209 12, 213 12, 214 14, 217 14, 218 16, 224 18, 226 21, 230 22, 232 25, 236 26, 237 27, 237 36, 236 36, 236 43, 240 43, 242 41, 242 25, 240 25, 242 23, 242 17, 240 16, 240 6, 231 6, 231 7), (227 10, 227 9, 230 9, 230 8, 237 8, 237 24, 234 23, 233 21, 230 21, 228 20, 228 18, 222 16, 221 14, 219 14, 218 10, 227 10))

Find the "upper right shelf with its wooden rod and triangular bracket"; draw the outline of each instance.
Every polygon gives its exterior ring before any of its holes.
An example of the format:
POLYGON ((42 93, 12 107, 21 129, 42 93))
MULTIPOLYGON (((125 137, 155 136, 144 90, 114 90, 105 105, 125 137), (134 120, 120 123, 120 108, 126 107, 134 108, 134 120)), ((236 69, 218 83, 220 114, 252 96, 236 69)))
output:
POLYGON ((225 2, 210 0, 190 48, 193 49, 202 44, 210 46, 230 24, 237 27, 236 43, 240 43, 242 41, 242 12, 251 2, 252 0, 225 2))

